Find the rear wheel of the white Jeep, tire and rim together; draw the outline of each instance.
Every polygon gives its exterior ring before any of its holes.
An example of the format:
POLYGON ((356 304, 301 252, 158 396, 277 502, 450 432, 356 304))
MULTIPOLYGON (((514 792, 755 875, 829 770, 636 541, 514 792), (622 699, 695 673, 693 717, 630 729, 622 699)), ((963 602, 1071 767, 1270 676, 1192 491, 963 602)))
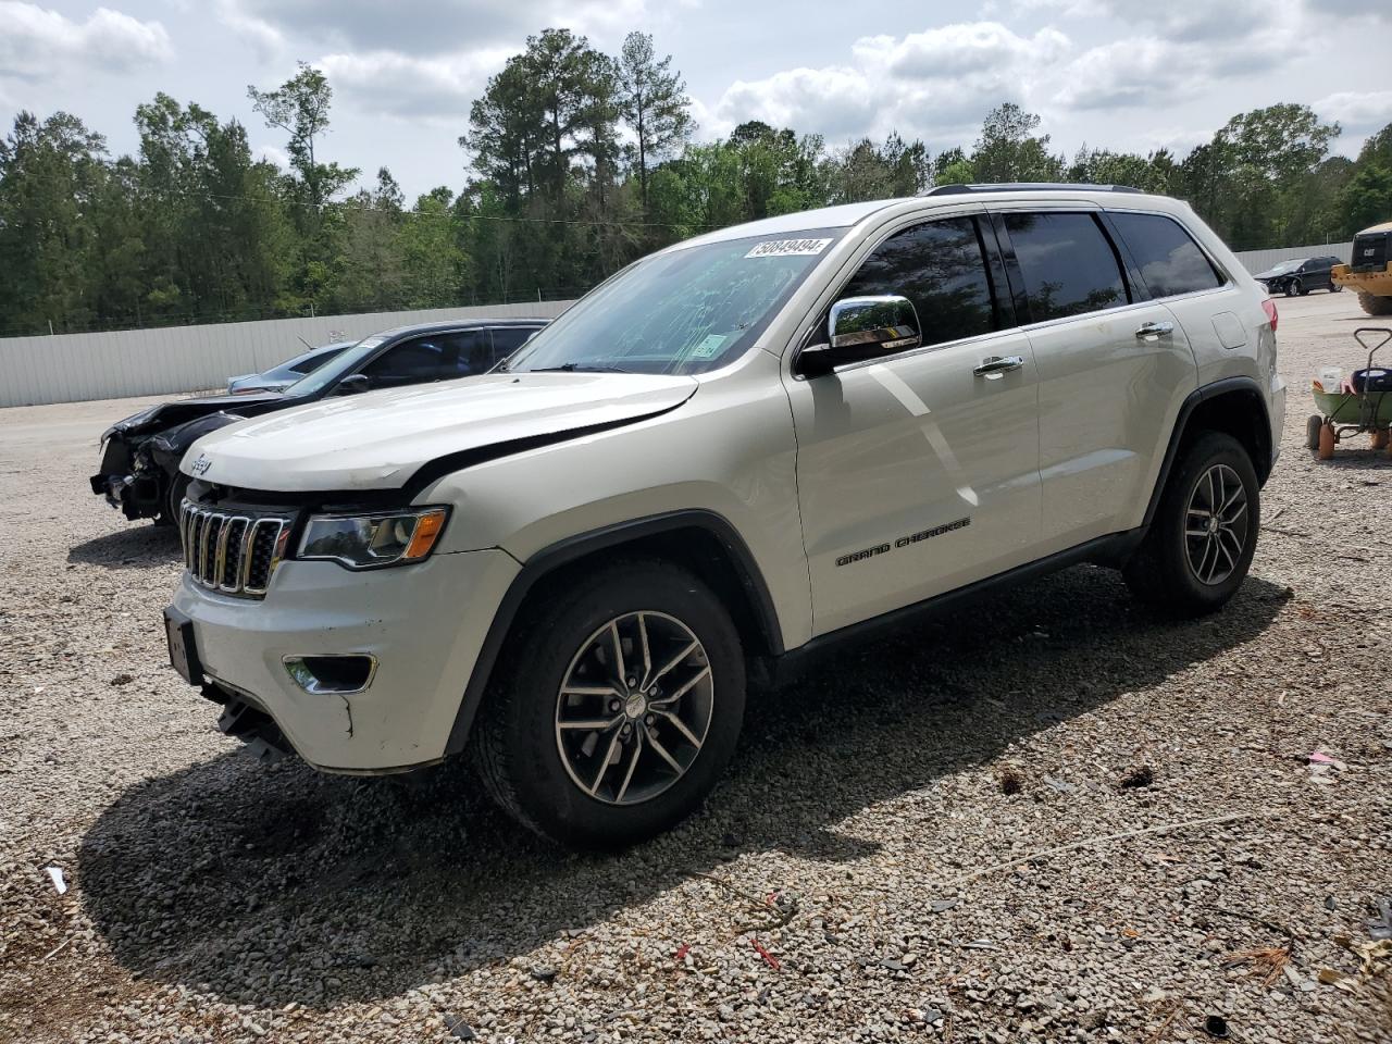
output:
POLYGON ((1169 615, 1212 612, 1246 579, 1260 526, 1251 458, 1232 436, 1204 432, 1176 461, 1122 576, 1137 599, 1169 615))

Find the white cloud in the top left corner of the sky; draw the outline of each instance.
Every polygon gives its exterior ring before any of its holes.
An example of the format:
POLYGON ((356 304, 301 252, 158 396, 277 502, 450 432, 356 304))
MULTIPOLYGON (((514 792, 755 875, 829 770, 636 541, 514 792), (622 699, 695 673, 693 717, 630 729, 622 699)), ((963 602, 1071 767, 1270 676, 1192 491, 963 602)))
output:
POLYGON ((173 56, 157 21, 99 7, 78 22, 36 4, 0 0, 0 77, 50 79, 74 68, 124 72, 173 56))

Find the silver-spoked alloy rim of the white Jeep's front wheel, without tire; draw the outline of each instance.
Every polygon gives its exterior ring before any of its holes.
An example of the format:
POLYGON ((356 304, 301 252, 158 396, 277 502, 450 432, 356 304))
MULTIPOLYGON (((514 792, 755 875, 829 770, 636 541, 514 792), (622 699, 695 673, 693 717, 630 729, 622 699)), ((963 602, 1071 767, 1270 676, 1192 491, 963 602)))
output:
POLYGON ((658 796, 696 761, 715 683, 700 639, 665 612, 597 628, 567 667, 555 745, 571 781, 607 805, 658 796))

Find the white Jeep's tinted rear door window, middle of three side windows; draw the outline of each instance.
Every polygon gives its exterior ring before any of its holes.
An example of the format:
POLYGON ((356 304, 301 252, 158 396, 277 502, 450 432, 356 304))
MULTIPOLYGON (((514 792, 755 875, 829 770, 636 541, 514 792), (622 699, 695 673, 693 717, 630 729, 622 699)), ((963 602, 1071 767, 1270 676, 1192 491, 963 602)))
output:
POLYGON ((1091 214, 1005 214, 1030 317, 1097 312, 1128 302, 1112 245, 1091 214))

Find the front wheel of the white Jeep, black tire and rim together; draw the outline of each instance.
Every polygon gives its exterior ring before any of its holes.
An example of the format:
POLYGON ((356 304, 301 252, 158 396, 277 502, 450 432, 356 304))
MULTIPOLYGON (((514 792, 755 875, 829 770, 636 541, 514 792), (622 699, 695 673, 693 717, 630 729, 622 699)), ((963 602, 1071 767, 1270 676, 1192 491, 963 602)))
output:
POLYGON ((720 600, 675 565, 568 579, 504 646, 475 763, 494 799, 543 837, 624 848, 715 786, 743 720, 743 650, 720 600))

